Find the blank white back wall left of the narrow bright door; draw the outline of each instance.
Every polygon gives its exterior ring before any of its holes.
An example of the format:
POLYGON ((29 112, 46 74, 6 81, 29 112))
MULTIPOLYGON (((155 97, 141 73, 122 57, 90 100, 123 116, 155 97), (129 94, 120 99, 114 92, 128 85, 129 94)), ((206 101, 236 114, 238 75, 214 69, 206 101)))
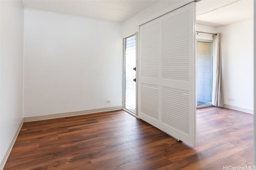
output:
POLYGON ((24 16, 24 117, 121 108, 121 24, 27 9, 24 16))

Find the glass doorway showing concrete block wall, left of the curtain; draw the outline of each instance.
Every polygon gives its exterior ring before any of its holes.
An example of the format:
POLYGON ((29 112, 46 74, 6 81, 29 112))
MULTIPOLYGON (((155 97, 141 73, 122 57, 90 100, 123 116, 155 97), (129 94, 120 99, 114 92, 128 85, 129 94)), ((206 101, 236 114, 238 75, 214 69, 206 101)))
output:
POLYGON ((197 107, 212 106, 212 42, 197 41, 197 107))

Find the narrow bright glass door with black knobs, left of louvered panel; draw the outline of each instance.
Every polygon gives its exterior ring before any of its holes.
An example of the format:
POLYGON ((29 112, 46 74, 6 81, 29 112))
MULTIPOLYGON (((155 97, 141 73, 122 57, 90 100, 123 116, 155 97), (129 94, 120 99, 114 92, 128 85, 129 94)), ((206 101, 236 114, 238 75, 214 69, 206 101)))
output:
POLYGON ((124 109, 136 114, 136 35, 124 38, 124 109))

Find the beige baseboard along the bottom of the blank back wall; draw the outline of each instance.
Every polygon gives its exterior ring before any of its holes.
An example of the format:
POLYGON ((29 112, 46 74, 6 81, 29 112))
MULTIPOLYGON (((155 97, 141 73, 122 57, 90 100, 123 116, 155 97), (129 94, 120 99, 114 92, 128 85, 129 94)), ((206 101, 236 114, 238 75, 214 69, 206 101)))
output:
POLYGON ((86 115, 91 113, 100 113, 104 111, 113 111, 113 110, 120 110, 120 109, 122 109, 122 106, 105 107, 100 109, 90 109, 90 110, 83 110, 83 111, 72 111, 72 112, 66 112, 66 113, 56 113, 52 115, 24 117, 23 121, 24 122, 39 121, 39 120, 55 119, 60 117, 70 117, 70 116, 77 116, 77 115, 86 115))

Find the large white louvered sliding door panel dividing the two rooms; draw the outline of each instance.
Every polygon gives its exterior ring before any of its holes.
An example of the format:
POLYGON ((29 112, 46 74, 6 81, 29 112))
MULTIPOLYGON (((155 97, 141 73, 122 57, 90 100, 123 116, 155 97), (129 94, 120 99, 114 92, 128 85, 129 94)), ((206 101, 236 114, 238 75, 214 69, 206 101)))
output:
POLYGON ((196 145, 195 2, 140 26, 138 116, 196 145))

